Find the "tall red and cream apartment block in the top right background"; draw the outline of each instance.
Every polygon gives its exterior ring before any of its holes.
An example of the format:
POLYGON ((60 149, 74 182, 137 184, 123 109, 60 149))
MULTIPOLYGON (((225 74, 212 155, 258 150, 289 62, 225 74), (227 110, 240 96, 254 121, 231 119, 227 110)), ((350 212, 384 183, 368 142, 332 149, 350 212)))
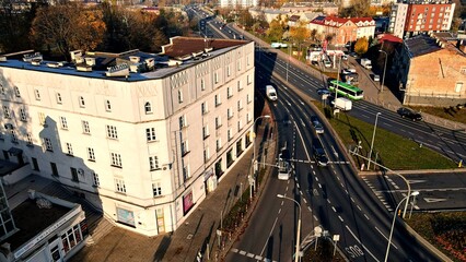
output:
POLYGON ((392 7, 388 32, 399 38, 447 32, 454 11, 455 3, 450 1, 398 1, 392 7))

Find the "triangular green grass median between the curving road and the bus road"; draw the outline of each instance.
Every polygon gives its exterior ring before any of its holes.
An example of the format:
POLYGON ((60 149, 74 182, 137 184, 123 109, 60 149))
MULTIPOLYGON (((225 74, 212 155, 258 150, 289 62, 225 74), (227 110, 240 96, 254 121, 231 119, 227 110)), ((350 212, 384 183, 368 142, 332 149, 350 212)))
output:
MULTIPOLYGON (((361 155, 369 154, 372 141, 373 124, 369 124, 357 118, 341 112, 338 118, 334 118, 329 108, 322 107, 322 104, 315 102, 315 105, 325 112, 327 120, 334 127, 345 145, 351 148, 361 141, 362 148, 359 151, 361 155)), ((401 135, 394 134, 380 127, 375 132, 373 157, 377 156, 377 162, 393 170, 409 169, 445 169, 457 167, 453 160, 421 146, 417 142, 406 139, 401 135)), ((365 160, 354 156, 358 164, 365 160)))

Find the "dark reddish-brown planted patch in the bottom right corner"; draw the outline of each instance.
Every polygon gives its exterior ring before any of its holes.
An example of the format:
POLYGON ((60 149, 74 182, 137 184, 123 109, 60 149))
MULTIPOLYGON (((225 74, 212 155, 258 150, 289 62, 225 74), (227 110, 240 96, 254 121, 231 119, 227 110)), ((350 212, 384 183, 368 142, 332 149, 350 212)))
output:
POLYGON ((412 214, 407 223, 454 261, 466 261, 466 212, 412 214))

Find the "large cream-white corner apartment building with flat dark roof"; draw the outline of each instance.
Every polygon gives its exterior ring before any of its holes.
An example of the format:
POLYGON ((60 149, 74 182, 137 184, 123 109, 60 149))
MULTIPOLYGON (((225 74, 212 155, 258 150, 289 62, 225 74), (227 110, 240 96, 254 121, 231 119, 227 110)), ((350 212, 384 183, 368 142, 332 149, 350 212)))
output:
POLYGON ((162 49, 0 56, 0 158, 121 227, 175 230, 252 143, 254 43, 174 37, 162 49))

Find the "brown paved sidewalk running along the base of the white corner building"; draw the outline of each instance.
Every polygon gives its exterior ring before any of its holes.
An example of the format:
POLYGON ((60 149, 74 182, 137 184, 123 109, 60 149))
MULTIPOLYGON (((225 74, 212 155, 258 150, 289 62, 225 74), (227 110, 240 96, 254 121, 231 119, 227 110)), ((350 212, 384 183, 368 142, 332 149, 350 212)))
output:
MULTIPOLYGON (((264 138, 265 123, 257 124, 256 151, 267 148, 267 159, 275 158, 277 130, 273 128, 271 140, 264 138)), ((254 145, 251 144, 241 159, 236 160, 225 174, 217 189, 208 194, 198 207, 189 215, 184 225, 175 233, 153 238, 144 237, 118 227, 103 237, 95 245, 85 247, 70 261, 198 261, 198 252, 203 257, 200 261, 222 261, 229 246, 235 241, 235 236, 225 242, 224 251, 218 248, 217 229, 220 228, 220 217, 226 216, 230 209, 241 198, 241 190, 248 187, 248 170, 253 158, 254 145), (209 245, 209 254, 206 252, 209 245), (208 259, 210 257, 210 260, 208 259)), ((256 152, 257 155, 260 155, 256 152)), ((268 168, 267 168, 268 169, 268 168)), ((267 172, 267 171, 266 171, 267 172)), ((265 184, 266 182, 263 182, 265 184)), ((259 189, 259 192, 261 189, 259 189)), ((258 196, 254 198, 257 201, 258 196)), ((253 202, 254 202, 253 201, 253 202)), ((254 207, 251 209, 251 211, 254 207)), ((248 213, 252 213, 252 212, 248 213)), ((247 218, 246 218, 247 219, 247 218)))

